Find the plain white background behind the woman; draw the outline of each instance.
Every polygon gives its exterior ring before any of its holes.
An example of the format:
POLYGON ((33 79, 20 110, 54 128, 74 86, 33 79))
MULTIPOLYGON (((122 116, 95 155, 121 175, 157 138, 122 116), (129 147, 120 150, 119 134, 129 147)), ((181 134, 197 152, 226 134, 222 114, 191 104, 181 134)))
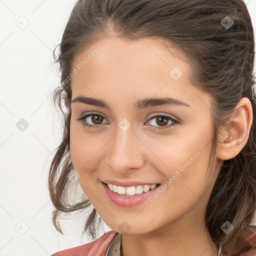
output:
MULTIPOLYGON (((256 0, 244 1, 256 30, 256 0)), ((61 135, 49 100, 59 83, 52 51, 74 2, 0 0, 0 256, 46 256, 87 242, 80 237, 84 216, 61 222, 65 236, 55 230, 47 188, 61 135), (24 29, 20 19, 29 22, 24 29), (16 126, 21 118, 28 123, 23 131, 16 126)))

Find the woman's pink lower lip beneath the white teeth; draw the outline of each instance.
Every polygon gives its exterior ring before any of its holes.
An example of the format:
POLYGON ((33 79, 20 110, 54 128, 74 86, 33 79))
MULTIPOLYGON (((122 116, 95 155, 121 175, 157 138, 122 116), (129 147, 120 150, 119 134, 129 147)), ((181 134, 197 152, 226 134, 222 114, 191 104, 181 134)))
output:
POLYGON ((134 195, 123 195, 123 194, 118 194, 116 192, 111 191, 108 186, 101 182, 104 190, 108 196, 108 198, 114 202, 115 204, 119 206, 124 206, 124 207, 132 207, 135 205, 138 205, 145 201, 150 195, 152 195, 156 189, 158 189, 157 185, 155 188, 148 190, 147 192, 143 192, 141 194, 134 194, 134 195))

